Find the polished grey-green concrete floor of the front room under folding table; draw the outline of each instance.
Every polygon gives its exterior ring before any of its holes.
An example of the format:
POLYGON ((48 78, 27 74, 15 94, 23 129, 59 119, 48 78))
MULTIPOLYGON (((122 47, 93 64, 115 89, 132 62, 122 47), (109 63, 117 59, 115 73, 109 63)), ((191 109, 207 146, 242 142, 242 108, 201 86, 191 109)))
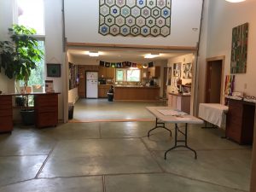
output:
MULTIPOLYGON (((138 106, 134 111, 143 110, 138 106)), ((173 137, 158 129, 148 138, 152 127, 154 121, 68 123, 45 129, 15 126, 11 135, 0 135, 0 191, 249 190, 250 146, 220 138, 222 130, 191 125, 189 146, 198 159, 178 148, 164 160, 173 137)))

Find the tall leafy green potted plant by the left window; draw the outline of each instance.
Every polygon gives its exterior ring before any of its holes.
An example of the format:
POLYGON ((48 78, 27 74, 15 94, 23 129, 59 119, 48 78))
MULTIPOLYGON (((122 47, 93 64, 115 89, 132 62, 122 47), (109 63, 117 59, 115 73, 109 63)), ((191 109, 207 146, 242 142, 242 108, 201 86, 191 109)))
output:
MULTIPOLYGON (((5 75, 9 79, 15 78, 15 80, 23 81, 25 90, 32 70, 37 67, 38 61, 44 55, 38 46, 38 40, 32 37, 34 34, 36 34, 36 31, 32 28, 14 25, 12 28, 9 28, 11 41, 0 42, 0 66, 3 67, 5 75)), ((25 108, 21 109, 22 118, 24 113, 33 115, 33 111, 29 110, 28 95, 24 95, 24 98, 26 102, 25 108)), ((29 119, 33 120, 34 118, 29 119)), ((26 119, 24 123, 26 125, 32 124, 32 122, 26 121, 26 119)))

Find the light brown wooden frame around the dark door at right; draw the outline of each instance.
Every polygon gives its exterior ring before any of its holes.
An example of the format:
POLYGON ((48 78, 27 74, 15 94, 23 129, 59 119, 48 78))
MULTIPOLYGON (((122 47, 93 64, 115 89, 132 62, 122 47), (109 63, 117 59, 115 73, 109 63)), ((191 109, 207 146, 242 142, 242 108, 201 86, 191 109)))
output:
POLYGON ((207 88, 208 88, 208 65, 210 64, 210 62, 212 61, 222 61, 221 63, 221 85, 220 85, 220 103, 221 104, 224 104, 224 61, 225 61, 225 56, 222 55, 222 56, 214 56, 214 57, 210 57, 210 58, 207 58, 206 60, 206 75, 205 75, 205 102, 207 101, 207 88))

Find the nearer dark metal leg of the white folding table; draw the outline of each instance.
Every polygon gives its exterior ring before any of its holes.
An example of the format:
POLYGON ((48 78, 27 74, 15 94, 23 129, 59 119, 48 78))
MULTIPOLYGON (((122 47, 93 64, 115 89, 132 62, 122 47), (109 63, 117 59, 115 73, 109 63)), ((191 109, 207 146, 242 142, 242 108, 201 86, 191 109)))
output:
MULTIPOLYGON (((166 154, 171 151, 172 149, 174 148, 189 148, 188 146, 188 124, 185 125, 185 132, 183 131, 180 131, 178 129, 178 126, 177 124, 175 124, 175 143, 174 143, 174 146, 172 148, 169 148, 168 150, 166 150, 166 153, 165 153, 165 160, 166 160, 166 154), (181 134, 183 134, 183 136, 185 137, 183 140, 177 140, 177 132, 180 132, 181 134), (182 144, 177 144, 177 143, 184 143, 183 145, 182 144)), ((196 151, 193 149, 193 148, 189 148, 189 150, 193 151, 194 154, 195 154, 195 160, 197 159, 197 154, 196 154, 196 151)))

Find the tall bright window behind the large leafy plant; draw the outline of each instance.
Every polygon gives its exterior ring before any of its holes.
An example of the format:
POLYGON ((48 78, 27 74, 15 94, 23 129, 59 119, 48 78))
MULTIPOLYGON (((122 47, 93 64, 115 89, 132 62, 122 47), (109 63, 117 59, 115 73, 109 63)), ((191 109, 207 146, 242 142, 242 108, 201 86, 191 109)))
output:
MULTIPOLYGON (((19 25, 34 28, 39 40, 38 44, 44 52, 44 0, 16 0, 17 22, 19 25)), ((28 85, 44 86, 44 58, 38 62, 37 68, 32 70, 28 85)), ((20 82, 23 86, 24 82, 20 82)))

